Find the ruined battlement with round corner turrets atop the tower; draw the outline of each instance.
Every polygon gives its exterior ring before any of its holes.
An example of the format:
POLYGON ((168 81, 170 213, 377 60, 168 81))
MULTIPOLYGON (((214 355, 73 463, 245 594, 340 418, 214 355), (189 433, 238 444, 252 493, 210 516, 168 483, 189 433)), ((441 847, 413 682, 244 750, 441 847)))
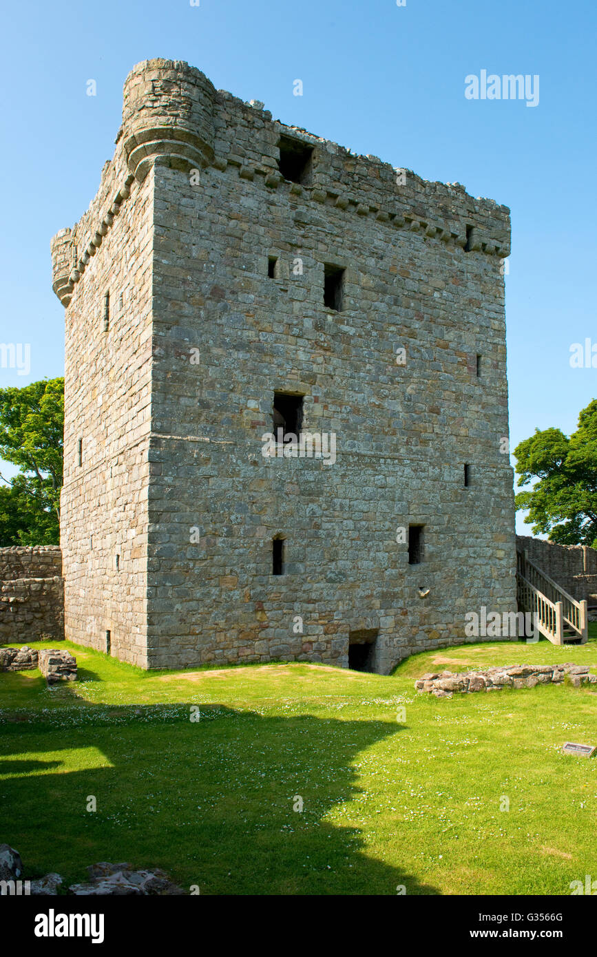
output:
POLYGON ((474 198, 458 183, 430 182, 376 156, 352 153, 330 140, 272 119, 263 104, 216 91, 200 70, 180 60, 149 59, 124 82, 122 126, 98 194, 72 229, 52 240, 53 289, 68 305, 103 237, 152 165, 189 171, 211 167, 254 189, 283 190, 289 200, 376 219, 470 252, 510 254, 510 215, 491 199, 474 198), (300 182, 280 170, 280 138, 311 151, 300 182))

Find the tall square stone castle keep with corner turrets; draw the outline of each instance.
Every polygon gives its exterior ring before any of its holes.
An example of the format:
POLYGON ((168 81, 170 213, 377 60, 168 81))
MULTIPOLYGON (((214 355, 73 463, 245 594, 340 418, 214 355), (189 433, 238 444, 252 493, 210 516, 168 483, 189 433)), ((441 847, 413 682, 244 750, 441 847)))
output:
POLYGON ((52 242, 66 637, 144 668, 387 673, 516 611, 509 244, 458 184, 136 66, 52 242))

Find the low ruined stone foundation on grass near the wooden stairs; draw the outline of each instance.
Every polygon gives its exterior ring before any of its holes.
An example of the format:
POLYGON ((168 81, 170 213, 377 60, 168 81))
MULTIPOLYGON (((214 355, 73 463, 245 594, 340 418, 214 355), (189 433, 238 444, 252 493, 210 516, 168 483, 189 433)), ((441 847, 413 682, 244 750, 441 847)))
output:
POLYGON ((428 691, 436 698, 452 698, 453 692, 498 691, 500 688, 534 688, 537 684, 562 684, 569 676, 576 688, 597 684, 597 675, 589 674, 589 665, 517 664, 487 668, 486 671, 429 672, 414 682, 420 693, 428 691))

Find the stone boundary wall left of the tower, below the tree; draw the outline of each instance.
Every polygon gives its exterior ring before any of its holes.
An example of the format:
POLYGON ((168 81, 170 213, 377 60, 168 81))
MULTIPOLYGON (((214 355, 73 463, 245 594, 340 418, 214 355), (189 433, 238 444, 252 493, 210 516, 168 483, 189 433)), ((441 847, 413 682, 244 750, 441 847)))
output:
POLYGON ((0 642, 64 637, 58 545, 0 548, 0 642))

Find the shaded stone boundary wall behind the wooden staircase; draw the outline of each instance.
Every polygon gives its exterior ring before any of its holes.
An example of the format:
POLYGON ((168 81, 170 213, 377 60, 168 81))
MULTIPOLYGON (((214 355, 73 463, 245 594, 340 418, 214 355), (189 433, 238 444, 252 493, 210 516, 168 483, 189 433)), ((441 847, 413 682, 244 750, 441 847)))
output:
POLYGON ((577 601, 597 604, 597 549, 588 545, 557 545, 530 535, 517 535, 517 548, 526 550, 534 565, 553 578, 577 601))

